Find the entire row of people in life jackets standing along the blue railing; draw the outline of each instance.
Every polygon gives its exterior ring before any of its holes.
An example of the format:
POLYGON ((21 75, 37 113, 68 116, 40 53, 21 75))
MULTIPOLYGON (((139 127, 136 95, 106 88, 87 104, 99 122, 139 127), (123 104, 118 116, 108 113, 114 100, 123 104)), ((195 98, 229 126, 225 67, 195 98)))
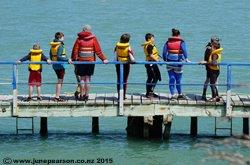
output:
MULTIPOLYGON (((130 64, 135 62, 135 57, 133 50, 129 44, 130 35, 122 34, 120 41, 115 45, 114 52, 116 54, 116 60, 124 62, 124 74, 123 74, 123 88, 124 95, 123 98, 126 99, 126 91, 128 84, 128 76, 130 72, 130 64)), ((66 51, 64 47, 64 35, 61 32, 55 34, 55 39, 50 43, 50 59, 52 61, 68 61, 72 64, 72 61, 87 61, 93 62, 96 61, 96 56, 98 56, 103 63, 108 63, 107 57, 103 54, 100 44, 91 32, 91 26, 85 25, 83 31, 78 33, 78 38, 74 43, 72 50, 71 58, 66 57, 66 51)), ((145 59, 146 61, 160 61, 159 52, 155 46, 154 35, 147 33, 145 35, 145 42, 142 44, 145 59)), ((204 84, 203 90, 203 99, 206 100, 206 89, 208 83, 210 82, 212 89, 212 100, 218 101, 218 90, 216 88, 216 81, 219 76, 219 65, 218 63, 221 60, 221 51, 219 39, 212 38, 211 42, 207 45, 205 52, 204 61, 201 61, 200 64, 206 65, 207 78, 204 84)), ((184 40, 180 37, 180 31, 178 29, 172 29, 172 36, 168 38, 163 47, 162 58, 164 61, 169 62, 189 62, 188 53, 186 49, 186 44, 184 40)), ((38 44, 33 46, 33 49, 30 50, 29 54, 18 62, 22 61, 51 61, 43 55, 42 50, 38 44)), ((91 76, 94 74, 94 64, 77 64, 75 65, 75 75, 79 84, 79 91, 75 92, 75 97, 81 101, 87 101, 89 98, 89 89, 91 76)), ((158 97, 154 93, 154 88, 158 81, 161 81, 161 73, 157 64, 145 64, 147 71, 147 81, 146 81, 146 97, 158 97)), ((65 66, 63 64, 53 64, 53 69, 57 75, 58 82, 56 84, 56 96, 54 101, 64 101, 60 98, 60 92, 62 88, 63 78, 65 74, 65 66)), ((32 100, 33 87, 37 86, 37 100, 41 100, 41 71, 42 66, 40 64, 30 64, 29 65, 29 96, 26 101, 32 100)), ((170 98, 185 98, 185 95, 182 93, 181 88, 181 78, 183 73, 182 65, 167 65, 167 71, 169 75, 169 89, 170 89, 170 98), (178 95, 175 95, 175 86, 178 92, 178 95)), ((117 73, 117 91, 119 93, 120 88, 120 65, 116 65, 117 73)))

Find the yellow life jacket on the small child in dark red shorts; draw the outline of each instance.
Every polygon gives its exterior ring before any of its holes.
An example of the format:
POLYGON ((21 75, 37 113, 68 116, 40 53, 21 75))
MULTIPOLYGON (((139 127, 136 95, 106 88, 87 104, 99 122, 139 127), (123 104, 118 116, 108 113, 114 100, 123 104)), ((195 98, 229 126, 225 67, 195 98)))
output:
MULTIPOLYGON (((42 60, 42 50, 30 49, 30 61, 31 62, 40 62, 42 60)), ((41 69, 41 64, 29 64, 30 70, 38 71, 41 69)))

